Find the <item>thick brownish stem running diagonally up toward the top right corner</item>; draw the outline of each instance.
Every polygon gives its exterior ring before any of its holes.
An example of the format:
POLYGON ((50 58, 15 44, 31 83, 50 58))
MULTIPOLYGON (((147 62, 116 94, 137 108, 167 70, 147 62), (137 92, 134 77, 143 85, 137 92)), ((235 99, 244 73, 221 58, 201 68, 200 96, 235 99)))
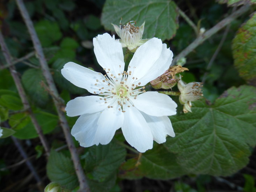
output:
POLYGON ((213 34, 217 33, 220 29, 224 28, 226 25, 231 23, 233 20, 236 19, 236 17, 239 17, 243 13, 247 12, 249 10, 249 5, 244 5, 219 23, 217 23, 214 27, 207 30, 204 34, 197 37, 188 47, 186 47, 180 54, 178 54, 171 63, 171 66, 175 65, 177 60, 180 58, 183 58, 187 56, 191 51, 193 51, 198 45, 203 43, 206 39, 211 37, 213 34))

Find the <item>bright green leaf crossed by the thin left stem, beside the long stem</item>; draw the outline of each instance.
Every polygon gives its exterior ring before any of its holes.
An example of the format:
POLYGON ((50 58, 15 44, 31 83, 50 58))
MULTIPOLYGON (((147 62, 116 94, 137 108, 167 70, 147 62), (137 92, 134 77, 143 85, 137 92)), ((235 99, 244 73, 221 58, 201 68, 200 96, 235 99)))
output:
MULTIPOLYGON (((58 124, 57 115, 40 110, 35 111, 34 114, 44 134, 54 130, 58 124)), ((18 139, 32 139, 38 137, 35 127, 26 113, 17 113, 10 116, 9 124, 16 131, 13 136, 18 139)))

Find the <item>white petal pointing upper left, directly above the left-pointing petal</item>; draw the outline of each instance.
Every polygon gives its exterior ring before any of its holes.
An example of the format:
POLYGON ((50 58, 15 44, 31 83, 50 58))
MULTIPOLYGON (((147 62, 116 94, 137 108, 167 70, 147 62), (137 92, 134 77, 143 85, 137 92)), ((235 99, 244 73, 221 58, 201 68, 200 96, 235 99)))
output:
POLYGON ((101 73, 74 62, 66 63, 61 69, 61 74, 75 86, 87 89, 90 93, 99 94, 101 92, 99 89, 108 86, 107 83, 103 83, 105 77, 101 73))

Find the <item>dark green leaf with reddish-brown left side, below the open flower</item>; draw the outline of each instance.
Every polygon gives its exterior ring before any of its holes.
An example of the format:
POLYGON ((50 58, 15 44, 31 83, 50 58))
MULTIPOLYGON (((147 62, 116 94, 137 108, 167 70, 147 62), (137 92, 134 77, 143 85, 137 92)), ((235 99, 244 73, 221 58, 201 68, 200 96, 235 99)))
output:
POLYGON ((129 159, 119 169, 119 177, 126 179, 171 179, 185 174, 175 155, 158 144, 141 157, 129 159))

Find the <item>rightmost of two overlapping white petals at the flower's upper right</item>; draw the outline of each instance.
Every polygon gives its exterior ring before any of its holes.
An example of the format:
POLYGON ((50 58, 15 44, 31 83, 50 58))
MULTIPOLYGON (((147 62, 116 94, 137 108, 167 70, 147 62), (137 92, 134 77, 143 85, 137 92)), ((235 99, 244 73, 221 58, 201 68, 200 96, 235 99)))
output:
POLYGON ((134 84, 137 84, 140 82, 141 83, 140 86, 144 86, 148 82, 156 79, 169 68, 172 60, 173 60, 173 52, 171 52, 170 49, 167 49, 166 44, 162 44, 162 52, 158 60, 156 60, 154 64, 151 66, 151 68, 149 68, 148 71, 145 73, 145 75, 141 77, 141 79, 138 79, 136 82, 134 82, 134 84))

